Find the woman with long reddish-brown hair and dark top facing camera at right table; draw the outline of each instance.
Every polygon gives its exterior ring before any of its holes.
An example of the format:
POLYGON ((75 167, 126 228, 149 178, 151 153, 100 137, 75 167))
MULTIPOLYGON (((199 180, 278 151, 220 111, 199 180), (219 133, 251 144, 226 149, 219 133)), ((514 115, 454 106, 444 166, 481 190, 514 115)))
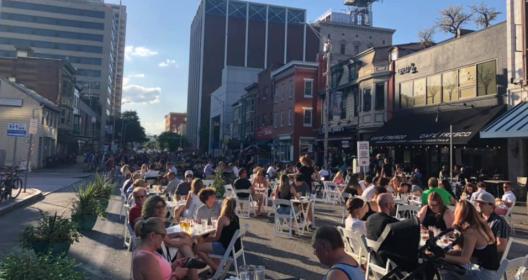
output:
POLYGON ((424 227, 435 227, 446 230, 453 225, 454 214, 447 208, 438 193, 431 193, 427 205, 418 211, 418 219, 424 227))

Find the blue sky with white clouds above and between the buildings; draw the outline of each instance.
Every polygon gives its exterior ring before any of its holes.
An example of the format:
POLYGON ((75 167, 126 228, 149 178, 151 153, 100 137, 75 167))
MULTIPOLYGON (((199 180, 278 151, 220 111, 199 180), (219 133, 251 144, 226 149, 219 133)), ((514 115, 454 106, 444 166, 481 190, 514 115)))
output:
MULTIPOLYGON (((253 2, 304 8, 310 22, 329 9, 345 8, 343 0, 253 2)), ((147 133, 158 134, 163 130, 165 114, 187 110, 189 29, 199 0, 122 0, 122 3, 128 10, 123 110, 137 111, 147 133)), ((396 44, 413 42, 420 30, 435 23, 442 8, 478 3, 501 12, 496 22, 505 19, 504 0, 382 0, 374 5, 374 25, 396 29, 393 40, 396 44)), ((441 41, 447 37, 437 32, 434 39, 441 41)))

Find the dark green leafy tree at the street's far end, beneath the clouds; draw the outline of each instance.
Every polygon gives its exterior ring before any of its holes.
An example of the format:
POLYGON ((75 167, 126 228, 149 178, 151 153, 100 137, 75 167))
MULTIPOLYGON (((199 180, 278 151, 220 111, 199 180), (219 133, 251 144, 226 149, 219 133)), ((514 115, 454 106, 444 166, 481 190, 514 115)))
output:
POLYGON ((145 143, 147 136, 145 128, 141 126, 136 111, 126 111, 121 114, 121 118, 116 121, 116 132, 122 144, 145 143))

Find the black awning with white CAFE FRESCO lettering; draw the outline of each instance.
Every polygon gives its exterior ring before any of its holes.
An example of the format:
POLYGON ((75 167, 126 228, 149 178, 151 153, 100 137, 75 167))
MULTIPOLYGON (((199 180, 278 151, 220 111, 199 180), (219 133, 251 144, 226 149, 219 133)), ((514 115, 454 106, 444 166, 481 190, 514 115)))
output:
POLYGON ((448 145, 453 125, 453 144, 466 145, 478 136, 504 106, 397 115, 379 129, 373 145, 448 145))

